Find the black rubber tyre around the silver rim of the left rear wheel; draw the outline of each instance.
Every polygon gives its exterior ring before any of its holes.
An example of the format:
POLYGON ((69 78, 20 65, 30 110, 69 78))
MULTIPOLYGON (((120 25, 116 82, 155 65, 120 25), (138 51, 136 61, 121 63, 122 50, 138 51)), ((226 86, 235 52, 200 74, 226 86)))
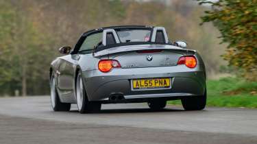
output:
POLYGON ((83 93, 77 93, 78 91, 78 79, 81 76, 81 73, 78 72, 77 78, 76 78, 76 97, 77 97, 77 108, 80 113, 93 113, 93 112, 99 112, 101 110, 101 102, 98 101, 88 101, 88 97, 86 95, 86 89, 84 87, 84 82, 82 80, 82 92, 83 93), (79 98, 78 95, 81 95, 82 97, 79 98), (81 103, 78 103, 78 100, 80 99, 81 103), (80 105, 81 106, 80 106, 80 105))

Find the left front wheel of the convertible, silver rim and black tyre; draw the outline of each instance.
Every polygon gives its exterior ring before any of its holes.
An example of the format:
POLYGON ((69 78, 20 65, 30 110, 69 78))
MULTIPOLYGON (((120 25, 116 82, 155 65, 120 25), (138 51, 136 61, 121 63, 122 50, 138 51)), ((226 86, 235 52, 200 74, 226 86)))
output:
POLYGON ((51 76, 51 107, 53 111, 69 111, 71 109, 71 104, 62 103, 58 91, 56 90, 56 83, 54 81, 53 75, 51 76), (53 88, 53 89, 52 89, 53 88))

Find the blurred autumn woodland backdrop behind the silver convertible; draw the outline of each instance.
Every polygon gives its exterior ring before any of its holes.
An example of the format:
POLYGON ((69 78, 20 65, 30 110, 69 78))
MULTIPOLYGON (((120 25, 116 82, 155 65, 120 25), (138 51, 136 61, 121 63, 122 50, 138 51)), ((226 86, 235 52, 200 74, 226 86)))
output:
POLYGON ((110 25, 163 26, 171 41, 199 51, 209 80, 235 77, 238 71, 221 58, 229 44, 220 44, 219 27, 200 25, 206 10, 211 3, 193 0, 0 0, 0 95, 49 95, 49 64, 58 48, 110 25))

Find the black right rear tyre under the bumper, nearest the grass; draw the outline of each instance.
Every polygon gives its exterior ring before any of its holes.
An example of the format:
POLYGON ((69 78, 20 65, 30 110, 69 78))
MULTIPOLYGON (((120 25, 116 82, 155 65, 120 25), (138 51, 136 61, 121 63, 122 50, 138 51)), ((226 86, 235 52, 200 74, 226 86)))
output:
POLYGON ((181 99, 184 110, 203 110, 206 106, 206 90, 204 95, 181 99))

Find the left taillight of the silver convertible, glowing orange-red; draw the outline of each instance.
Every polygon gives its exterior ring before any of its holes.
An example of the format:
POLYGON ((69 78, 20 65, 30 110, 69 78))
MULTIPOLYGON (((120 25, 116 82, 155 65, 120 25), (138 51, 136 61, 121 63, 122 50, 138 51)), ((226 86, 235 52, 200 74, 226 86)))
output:
POLYGON ((121 67, 121 64, 117 60, 100 60, 98 63, 98 69, 103 73, 107 73, 112 68, 117 67, 121 67))

